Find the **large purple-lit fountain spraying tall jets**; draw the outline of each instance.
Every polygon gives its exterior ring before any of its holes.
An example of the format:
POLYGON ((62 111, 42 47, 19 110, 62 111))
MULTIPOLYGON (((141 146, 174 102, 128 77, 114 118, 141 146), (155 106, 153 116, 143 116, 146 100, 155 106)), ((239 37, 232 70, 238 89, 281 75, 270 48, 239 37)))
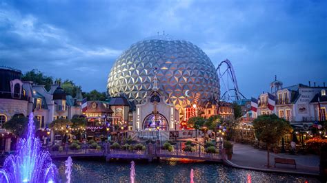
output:
POLYGON ((57 167, 50 153, 41 151, 41 142, 34 138, 33 114, 28 122, 26 138, 19 140, 17 153, 9 155, 0 169, 0 182, 56 182, 57 167))

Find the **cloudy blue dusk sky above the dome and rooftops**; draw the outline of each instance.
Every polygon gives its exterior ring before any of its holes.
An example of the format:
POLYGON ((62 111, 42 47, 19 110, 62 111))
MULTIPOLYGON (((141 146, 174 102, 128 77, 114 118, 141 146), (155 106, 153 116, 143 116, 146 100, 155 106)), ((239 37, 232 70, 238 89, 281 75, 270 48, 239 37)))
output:
POLYGON ((228 58, 248 98, 308 80, 327 82, 327 1, 2 1, 0 65, 106 91, 132 43, 166 34, 228 58))

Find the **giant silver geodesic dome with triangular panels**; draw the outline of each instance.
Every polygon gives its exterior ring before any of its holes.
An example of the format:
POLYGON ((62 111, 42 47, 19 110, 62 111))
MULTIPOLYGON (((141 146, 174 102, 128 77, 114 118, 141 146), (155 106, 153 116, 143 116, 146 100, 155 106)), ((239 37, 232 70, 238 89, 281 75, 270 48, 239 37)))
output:
MULTIPOLYGON (((157 68, 160 92, 180 113, 200 95, 199 105, 219 98, 219 79, 210 58, 188 41, 155 36, 131 45, 117 58, 108 76, 108 94, 126 94, 143 103, 150 94, 157 68)), ((198 100, 198 99, 197 99, 198 100)))

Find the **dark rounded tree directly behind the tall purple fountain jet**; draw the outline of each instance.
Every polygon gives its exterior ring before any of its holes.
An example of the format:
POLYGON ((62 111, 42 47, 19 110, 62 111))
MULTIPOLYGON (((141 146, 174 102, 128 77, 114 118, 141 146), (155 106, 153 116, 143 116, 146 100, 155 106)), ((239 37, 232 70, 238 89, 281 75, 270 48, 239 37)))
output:
MULTIPOLYGON (((37 126, 37 119, 34 118, 34 125, 37 126)), ((3 127, 8 129, 15 136, 22 137, 28 131, 28 118, 23 115, 14 115, 3 127)))

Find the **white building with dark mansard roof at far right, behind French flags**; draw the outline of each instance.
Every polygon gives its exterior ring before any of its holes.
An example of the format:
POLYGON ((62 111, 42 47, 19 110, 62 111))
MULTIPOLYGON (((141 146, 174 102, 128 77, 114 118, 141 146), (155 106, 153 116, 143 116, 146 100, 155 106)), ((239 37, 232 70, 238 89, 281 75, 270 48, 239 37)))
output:
POLYGON ((270 85, 276 103, 273 111, 268 109, 268 93, 260 94, 257 115, 276 114, 279 118, 302 124, 326 120, 327 87, 325 87, 325 83, 323 87, 310 86, 310 83, 309 86, 299 84, 282 87, 282 85, 276 79, 270 85))

